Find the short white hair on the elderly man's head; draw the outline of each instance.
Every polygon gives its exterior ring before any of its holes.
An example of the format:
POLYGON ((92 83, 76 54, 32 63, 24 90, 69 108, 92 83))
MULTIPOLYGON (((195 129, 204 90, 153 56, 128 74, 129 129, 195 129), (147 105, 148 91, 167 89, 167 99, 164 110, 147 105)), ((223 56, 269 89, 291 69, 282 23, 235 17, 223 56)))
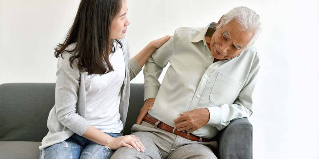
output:
POLYGON ((247 7, 236 7, 221 17, 220 24, 216 29, 228 24, 233 19, 241 24, 243 31, 252 31, 254 33, 253 37, 248 42, 247 47, 253 45, 263 30, 261 27, 262 23, 259 21, 259 15, 256 14, 254 10, 247 7))

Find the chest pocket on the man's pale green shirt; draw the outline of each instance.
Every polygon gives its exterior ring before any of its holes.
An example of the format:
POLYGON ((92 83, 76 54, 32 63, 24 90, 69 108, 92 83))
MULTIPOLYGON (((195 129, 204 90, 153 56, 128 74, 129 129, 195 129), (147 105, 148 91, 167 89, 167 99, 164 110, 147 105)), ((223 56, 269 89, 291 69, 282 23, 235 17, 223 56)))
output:
POLYGON ((233 104, 238 96, 240 86, 241 81, 219 72, 211 89, 209 99, 216 106, 228 103, 233 104))

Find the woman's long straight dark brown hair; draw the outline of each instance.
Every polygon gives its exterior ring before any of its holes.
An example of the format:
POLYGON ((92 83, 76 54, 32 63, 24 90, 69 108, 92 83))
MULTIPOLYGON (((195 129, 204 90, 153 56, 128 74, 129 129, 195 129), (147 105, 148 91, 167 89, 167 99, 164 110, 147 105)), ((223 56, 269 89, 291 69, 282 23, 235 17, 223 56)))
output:
MULTIPOLYGON (((120 13, 122 0, 81 0, 74 19, 63 44, 55 48, 55 57, 64 51, 75 52, 69 59, 79 58, 78 69, 88 74, 105 74, 114 71, 109 61, 109 53, 115 52, 114 40, 110 39, 111 23, 120 13), (66 48, 76 42, 73 50, 66 48), (107 63, 105 67, 103 60, 107 63)), ((63 57, 62 57, 63 58, 63 57)), ((73 68, 73 67, 72 67, 73 68)))

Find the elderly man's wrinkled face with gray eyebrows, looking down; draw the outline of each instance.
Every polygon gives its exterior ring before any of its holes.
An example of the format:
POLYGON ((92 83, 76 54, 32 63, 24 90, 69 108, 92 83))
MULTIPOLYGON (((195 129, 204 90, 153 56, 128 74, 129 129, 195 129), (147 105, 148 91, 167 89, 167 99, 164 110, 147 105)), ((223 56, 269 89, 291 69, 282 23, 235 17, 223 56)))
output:
MULTIPOLYGON (((217 24, 219 25, 220 20, 217 24)), ((211 54, 215 59, 226 60, 239 55, 253 37, 253 33, 243 31, 241 24, 232 20, 216 29, 211 37, 211 54)))

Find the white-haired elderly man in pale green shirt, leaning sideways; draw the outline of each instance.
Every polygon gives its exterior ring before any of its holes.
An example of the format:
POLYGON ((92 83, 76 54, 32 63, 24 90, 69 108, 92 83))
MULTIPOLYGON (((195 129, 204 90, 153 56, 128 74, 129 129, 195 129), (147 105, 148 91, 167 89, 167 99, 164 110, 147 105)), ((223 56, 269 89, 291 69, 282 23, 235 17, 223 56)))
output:
POLYGON ((145 105, 132 134, 145 153, 122 147, 113 158, 216 158, 211 138, 231 120, 252 114, 259 70, 252 44, 260 31, 259 16, 246 7, 205 28, 176 29, 144 68, 145 105))

